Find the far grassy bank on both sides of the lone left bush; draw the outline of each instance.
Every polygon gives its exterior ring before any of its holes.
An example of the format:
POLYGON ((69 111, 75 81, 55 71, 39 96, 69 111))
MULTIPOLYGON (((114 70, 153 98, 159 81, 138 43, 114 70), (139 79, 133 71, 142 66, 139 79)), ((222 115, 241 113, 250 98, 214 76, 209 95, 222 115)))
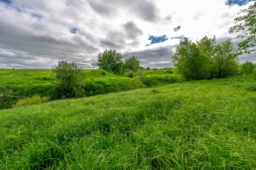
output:
MULTIPOLYGON (((101 69, 85 69, 84 90, 86 96, 129 90, 130 78, 121 77, 101 69)), ((20 99, 35 94, 60 99, 58 90, 50 83, 54 80, 51 70, 0 69, 0 109, 10 108, 20 99)))

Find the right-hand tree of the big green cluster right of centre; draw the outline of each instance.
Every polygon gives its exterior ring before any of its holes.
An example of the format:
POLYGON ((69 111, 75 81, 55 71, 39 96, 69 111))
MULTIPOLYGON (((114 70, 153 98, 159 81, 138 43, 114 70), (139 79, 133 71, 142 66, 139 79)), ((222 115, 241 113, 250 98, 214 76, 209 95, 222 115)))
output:
POLYGON ((230 39, 215 45, 212 60, 218 78, 236 74, 239 60, 238 55, 239 53, 233 49, 233 43, 230 39))

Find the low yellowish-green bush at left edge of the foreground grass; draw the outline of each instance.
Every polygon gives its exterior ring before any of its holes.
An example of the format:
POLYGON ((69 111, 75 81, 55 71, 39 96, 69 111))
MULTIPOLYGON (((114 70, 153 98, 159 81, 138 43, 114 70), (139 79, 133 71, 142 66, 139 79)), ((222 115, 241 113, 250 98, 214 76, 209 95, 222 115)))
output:
POLYGON ((17 102, 17 104, 14 104, 13 107, 42 104, 48 102, 49 100, 50 98, 48 96, 40 97, 39 95, 34 95, 32 98, 20 100, 17 102))

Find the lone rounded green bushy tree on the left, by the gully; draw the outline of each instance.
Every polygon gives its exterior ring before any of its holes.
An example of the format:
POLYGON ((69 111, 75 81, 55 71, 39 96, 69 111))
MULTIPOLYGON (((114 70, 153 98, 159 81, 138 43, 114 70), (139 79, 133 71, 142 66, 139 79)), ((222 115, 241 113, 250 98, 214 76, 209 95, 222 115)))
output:
POLYGON ((62 96, 83 96, 84 90, 81 85, 85 74, 83 68, 78 67, 75 62, 59 61, 57 66, 52 66, 52 75, 56 78, 52 83, 58 86, 62 96))

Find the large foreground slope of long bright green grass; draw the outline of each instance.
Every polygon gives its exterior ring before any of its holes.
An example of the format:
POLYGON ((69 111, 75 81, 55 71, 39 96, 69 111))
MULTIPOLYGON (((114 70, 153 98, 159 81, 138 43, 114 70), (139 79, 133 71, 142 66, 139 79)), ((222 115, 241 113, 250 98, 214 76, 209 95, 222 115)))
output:
POLYGON ((254 170, 255 89, 243 76, 0 110, 0 169, 254 170))

